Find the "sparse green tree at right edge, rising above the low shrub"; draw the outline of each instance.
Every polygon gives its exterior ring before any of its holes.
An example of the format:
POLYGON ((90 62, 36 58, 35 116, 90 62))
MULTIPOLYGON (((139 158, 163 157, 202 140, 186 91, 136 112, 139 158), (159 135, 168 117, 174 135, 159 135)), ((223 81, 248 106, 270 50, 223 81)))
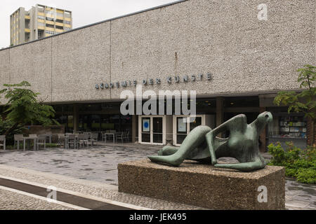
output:
MULTIPOLYGON (((310 118, 312 121, 312 136, 315 133, 315 120, 316 120, 316 67, 306 64, 302 69, 298 69, 298 83, 301 83, 301 92, 279 92, 275 97, 274 103, 277 106, 289 106, 288 112, 303 112, 305 118, 310 118)), ((313 145, 315 139, 310 139, 313 145)))

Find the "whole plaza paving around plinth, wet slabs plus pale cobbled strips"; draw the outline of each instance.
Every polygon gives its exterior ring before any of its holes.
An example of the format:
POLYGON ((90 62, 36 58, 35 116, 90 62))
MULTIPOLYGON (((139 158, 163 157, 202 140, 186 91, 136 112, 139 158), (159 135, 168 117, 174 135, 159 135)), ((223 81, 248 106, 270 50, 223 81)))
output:
MULTIPOLYGON (((112 146, 99 143, 96 147, 80 150, 55 148, 36 152, 1 151, 0 175, 145 209, 203 209, 118 192, 117 165, 120 162, 146 158, 147 155, 156 154, 158 150, 159 146, 138 144, 112 146)), ((268 154, 263 156, 266 159, 270 158, 268 154)), ((222 158, 220 162, 234 162, 233 160, 222 158)), ((0 196, 0 209, 76 209, 4 189, 0 189, 0 196), (11 197, 13 195, 15 196, 11 197)), ((287 179, 286 208, 316 209, 315 186, 287 179)))

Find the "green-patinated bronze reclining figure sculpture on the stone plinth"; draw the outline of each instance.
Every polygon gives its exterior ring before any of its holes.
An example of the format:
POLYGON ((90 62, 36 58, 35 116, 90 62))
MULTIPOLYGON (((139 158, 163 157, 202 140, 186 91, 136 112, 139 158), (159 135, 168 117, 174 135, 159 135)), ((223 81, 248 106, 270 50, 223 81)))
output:
POLYGON ((272 119, 270 112, 264 112, 249 125, 246 123, 246 116, 242 114, 231 118, 214 130, 207 126, 199 126, 187 135, 179 148, 165 146, 157 156, 150 156, 149 159, 152 162, 176 167, 184 160, 195 160, 242 172, 263 169, 266 162, 259 152, 258 139, 265 125, 272 119), (227 139, 216 137, 226 131, 230 132, 230 137, 227 139), (217 158, 223 157, 236 158, 239 163, 217 164, 217 158))

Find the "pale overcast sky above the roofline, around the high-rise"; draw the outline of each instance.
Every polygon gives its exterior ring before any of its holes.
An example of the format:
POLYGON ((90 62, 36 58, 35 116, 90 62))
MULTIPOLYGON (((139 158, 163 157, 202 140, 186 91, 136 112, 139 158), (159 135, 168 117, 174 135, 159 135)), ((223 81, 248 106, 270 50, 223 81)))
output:
POLYGON ((10 15, 20 7, 29 10, 37 3, 72 11, 73 28, 160 6, 176 0, 1 0, 0 48, 10 45, 10 15))

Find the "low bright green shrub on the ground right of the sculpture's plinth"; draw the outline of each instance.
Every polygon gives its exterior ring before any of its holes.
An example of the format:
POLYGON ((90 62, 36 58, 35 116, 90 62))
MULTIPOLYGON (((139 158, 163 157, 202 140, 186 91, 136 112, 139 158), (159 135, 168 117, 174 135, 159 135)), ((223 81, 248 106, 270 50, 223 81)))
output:
POLYGON ((316 183, 316 148, 305 150, 288 142, 284 151, 281 144, 270 144, 269 153, 273 156, 269 165, 285 167, 285 175, 297 179, 301 183, 316 183))

